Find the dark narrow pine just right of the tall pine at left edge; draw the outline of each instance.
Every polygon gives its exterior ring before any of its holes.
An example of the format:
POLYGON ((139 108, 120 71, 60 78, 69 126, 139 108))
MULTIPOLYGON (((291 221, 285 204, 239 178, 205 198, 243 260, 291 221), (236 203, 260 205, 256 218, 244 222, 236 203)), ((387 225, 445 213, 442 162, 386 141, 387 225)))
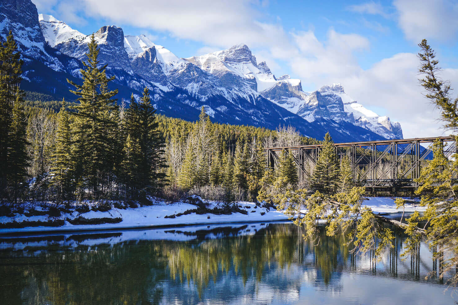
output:
POLYGON ((10 127, 10 148, 8 150, 8 181, 11 185, 13 198, 17 198, 25 187, 27 178, 27 121, 24 112, 23 95, 19 88, 16 91, 16 101, 13 106, 13 118, 10 127))

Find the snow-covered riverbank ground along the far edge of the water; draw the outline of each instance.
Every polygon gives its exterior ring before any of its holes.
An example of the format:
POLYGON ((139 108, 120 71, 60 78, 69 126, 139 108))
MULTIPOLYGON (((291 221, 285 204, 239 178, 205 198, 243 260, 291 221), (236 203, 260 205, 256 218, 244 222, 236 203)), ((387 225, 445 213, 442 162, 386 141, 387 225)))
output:
MULTIPOLYGON (((220 207, 221 203, 212 201, 207 202, 209 209, 220 207)), ((174 218, 165 218, 178 213, 184 213, 187 210, 196 209, 196 205, 190 203, 172 203, 167 204, 164 202, 156 202, 151 206, 143 206, 135 209, 116 209, 112 208, 109 211, 93 211, 90 210, 86 213, 73 213, 61 214, 60 217, 43 216, 30 216, 27 217, 22 214, 15 214, 12 217, 0 217, 0 223, 22 222, 22 221, 51 221, 58 219, 65 219, 65 224, 59 227, 25 227, 25 228, 11 228, 0 229, 0 234, 8 234, 14 232, 49 232, 49 231, 67 231, 67 230, 108 230, 108 229, 125 229, 125 228, 144 228, 144 227, 160 227, 160 226, 183 226, 183 225, 197 225, 197 224, 215 224, 215 223, 241 223, 241 222, 266 222, 288 220, 288 216, 282 211, 275 209, 267 209, 256 206, 251 202, 239 202, 239 208, 245 210, 247 214, 232 213, 230 215, 215 215, 215 214, 196 214, 191 213, 187 215, 176 216, 174 218), (85 219, 100 219, 100 218, 121 218, 118 223, 100 224, 100 225, 71 225, 67 219, 76 219, 83 217, 85 219)), ((380 214, 395 214, 402 212, 396 209, 394 198, 387 197, 369 197, 363 205, 371 208, 374 212, 380 214)), ((420 207, 418 202, 406 203, 405 212, 424 211, 425 208, 420 207)))

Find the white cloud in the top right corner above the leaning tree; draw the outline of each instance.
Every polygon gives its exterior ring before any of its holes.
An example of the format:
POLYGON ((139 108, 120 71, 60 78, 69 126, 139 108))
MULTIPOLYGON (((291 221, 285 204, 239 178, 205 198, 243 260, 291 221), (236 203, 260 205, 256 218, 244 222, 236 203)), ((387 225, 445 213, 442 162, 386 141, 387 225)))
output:
POLYGON ((456 41, 458 2, 454 0, 395 0, 398 24, 407 39, 423 38, 456 41))

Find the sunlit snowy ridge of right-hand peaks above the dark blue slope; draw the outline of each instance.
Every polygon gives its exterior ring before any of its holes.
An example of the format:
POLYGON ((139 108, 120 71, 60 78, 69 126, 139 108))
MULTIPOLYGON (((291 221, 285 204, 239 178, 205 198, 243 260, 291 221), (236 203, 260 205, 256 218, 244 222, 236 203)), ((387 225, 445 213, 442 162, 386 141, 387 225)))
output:
POLYGON ((291 79, 289 75, 277 79, 265 62, 257 64, 256 57, 244 44, 185 60, 217 76, 228 90, 235 87, 234 93, 240 92, 240 88, 245 93, 259 93, 309 122, 323 119, 347 122, 384 138, 402 138, 399 123, 365 109, 347 96, 340 84, 323 86, 313 93, 304 92, 299 79, 291 79))

